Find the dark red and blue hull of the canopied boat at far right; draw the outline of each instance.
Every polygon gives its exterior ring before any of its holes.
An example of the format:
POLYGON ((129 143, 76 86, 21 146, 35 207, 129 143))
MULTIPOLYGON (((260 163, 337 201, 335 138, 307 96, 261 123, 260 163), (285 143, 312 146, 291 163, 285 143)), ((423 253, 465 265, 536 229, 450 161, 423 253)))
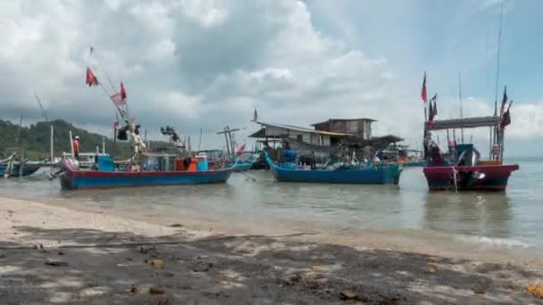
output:
POLYGON ((458 191, 505 191, 511 173, 518 165, 439 166, 422 169, 430 191, 457 189, 458 191), (455 176, 456 171, 456 187, 455 176), (474 173, 484 174, 477 178, 474 173))

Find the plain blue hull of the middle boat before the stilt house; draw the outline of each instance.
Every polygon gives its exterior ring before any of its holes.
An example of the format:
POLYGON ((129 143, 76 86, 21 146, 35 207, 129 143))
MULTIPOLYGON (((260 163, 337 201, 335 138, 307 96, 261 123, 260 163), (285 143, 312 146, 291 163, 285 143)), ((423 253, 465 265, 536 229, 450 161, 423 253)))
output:
POLYGON ((273 177, 280 182, 304 182, 356 185, 397 185, 401 169, 397 165, 369 169, 300 170, 271 165, 273 177))

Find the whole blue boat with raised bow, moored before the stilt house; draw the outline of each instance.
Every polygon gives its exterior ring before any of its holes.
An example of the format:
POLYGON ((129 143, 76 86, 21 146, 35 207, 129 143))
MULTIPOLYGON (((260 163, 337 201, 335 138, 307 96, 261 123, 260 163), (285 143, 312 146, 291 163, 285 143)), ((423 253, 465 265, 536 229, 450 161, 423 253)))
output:
POLYGON ((336 164, 325 169, 305 169, 293 163, 274 163, 268 156, 273 177, 281 182, 305 182, 328 184, 397 185, 401 167, 397 163, 357 165, 336 164))

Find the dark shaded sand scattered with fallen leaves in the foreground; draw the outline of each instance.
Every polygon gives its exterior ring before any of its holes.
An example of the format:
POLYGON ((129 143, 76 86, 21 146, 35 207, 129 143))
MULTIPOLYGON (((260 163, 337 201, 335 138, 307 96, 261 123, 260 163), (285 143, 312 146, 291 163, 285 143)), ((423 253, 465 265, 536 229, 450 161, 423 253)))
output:
MULTIPOLYGON (((39 232, 46 235, 46 230, 39 232)), ((62 237, 63 241, 69 237, 62 237)), ((71 234, 74 234, 71 230, 71 234)), ((89 235, 75 232, 74 235, 89 235)), ((540 271, 401 251, 365 250, 288 238, 220 236, 196 241, 93 232, 99 246, 51 253, 5 250, 1 300, 85 304, 530 304, 525 283, 540 271), (124 241, 137 240, 138 245, 124 241), (103 241, 107 241, 101 243, 103 241), (21 260, 21 256, 25 259, 21 260), (40 263, 38 264, 37 261, 40 263), (150 263, 151 262, 151 263, 150 263), (154 262, 161 262, 156 265, 154 262), (52 268, 53 267, 53 268, 52 268), (62 268, 59 268, 62 267, 62 268), (29 275, 34 276, 30 281, 29 275), (58 282, 55 282, 58 281, 58 282), (44 284, 46 283, 46 284, 44 284), (64 283, 76 283, 66 285, 64 283), (93 284, 92 288, 85 285, 93 284), (97 287, 95 287, 97 285, 97 287), (87 287, 87 288, 86 288, 87 287), (32 292, 32 293, 30 293, 32 292), (66 294, 67 293, 67 294, 66 294), (79 299, 71 299, 77 295, 79 299), (82 302, 84 301, 84 302, 82 302)))

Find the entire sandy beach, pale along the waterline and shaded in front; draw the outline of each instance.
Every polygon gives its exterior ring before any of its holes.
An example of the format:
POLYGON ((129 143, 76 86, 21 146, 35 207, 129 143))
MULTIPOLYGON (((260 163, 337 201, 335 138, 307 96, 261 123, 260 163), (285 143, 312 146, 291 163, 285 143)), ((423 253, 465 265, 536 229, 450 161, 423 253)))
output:
POLYGON ((3 304, 538 304, 539 259, 0 198, 3 304), (244 234, 245 233, 245 234, 244 234), (418 251, 415 251, 418 250, 418 251))

